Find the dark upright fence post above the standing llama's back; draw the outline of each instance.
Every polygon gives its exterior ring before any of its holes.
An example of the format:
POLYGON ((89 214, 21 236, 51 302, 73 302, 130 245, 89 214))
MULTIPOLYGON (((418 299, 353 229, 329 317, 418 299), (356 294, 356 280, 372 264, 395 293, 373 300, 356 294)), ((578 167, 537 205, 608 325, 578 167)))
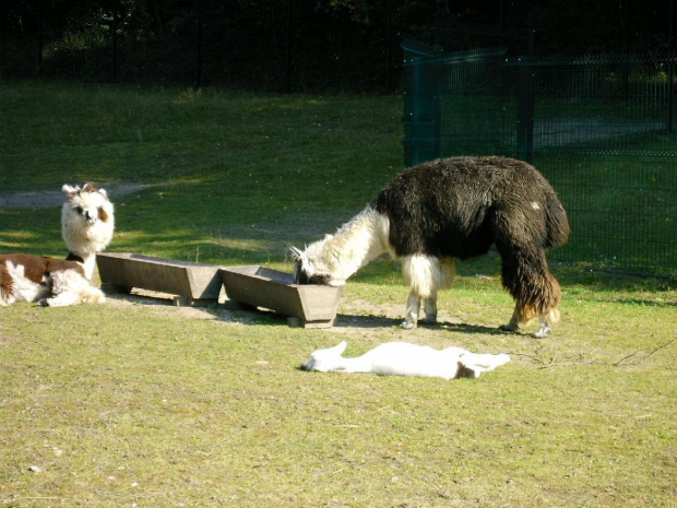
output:
POLYGON ((528 55, 520 57, 518 88, 518 158, 534 162, 534 31, 528 29, 528 55))

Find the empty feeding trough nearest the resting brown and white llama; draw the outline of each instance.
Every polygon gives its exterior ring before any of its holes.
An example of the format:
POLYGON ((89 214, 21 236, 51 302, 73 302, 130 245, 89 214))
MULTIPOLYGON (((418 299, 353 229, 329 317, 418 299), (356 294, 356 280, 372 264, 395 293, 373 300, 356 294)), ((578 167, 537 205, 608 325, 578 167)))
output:
POLYGON ((176 295, 176 305, 209 305, 218 302, 221 267, 152 258, 131 252, 96 256, 104 291, 130 293, 132 288, 176 295))

